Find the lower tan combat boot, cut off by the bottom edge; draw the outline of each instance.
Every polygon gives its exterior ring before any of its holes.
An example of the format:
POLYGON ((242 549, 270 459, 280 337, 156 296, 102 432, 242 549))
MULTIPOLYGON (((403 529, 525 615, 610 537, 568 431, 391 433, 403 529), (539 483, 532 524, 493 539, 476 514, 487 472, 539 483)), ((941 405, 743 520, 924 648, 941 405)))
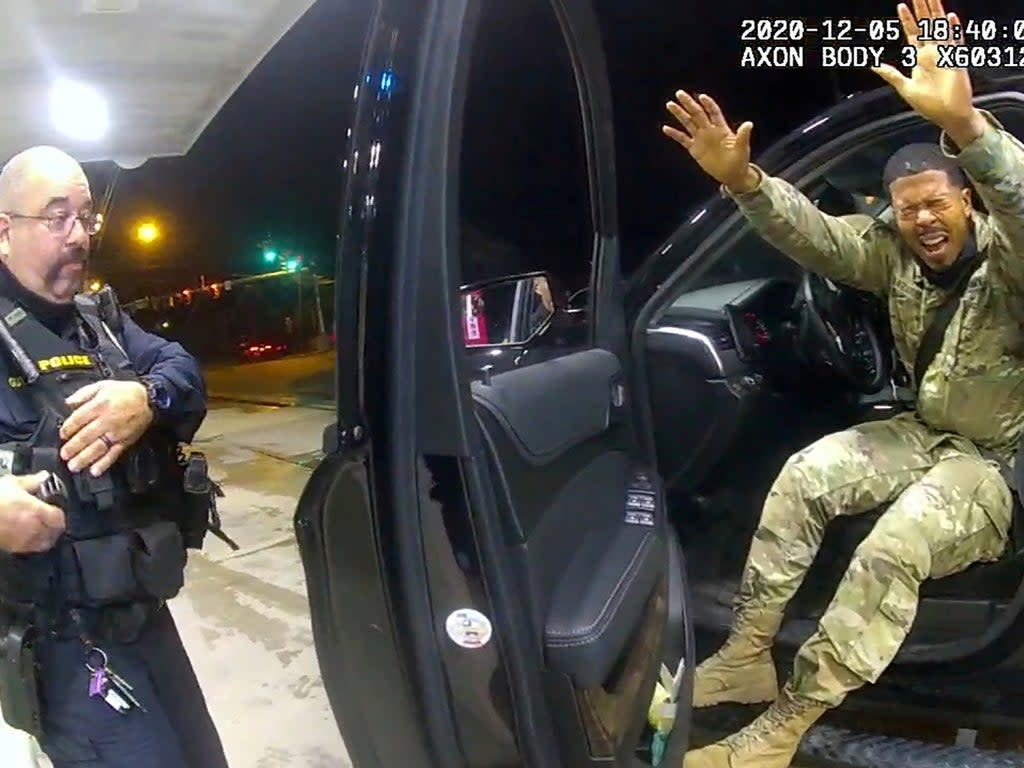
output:
POLYGON ((741 731, 687 753, 683 768, 790 768, 804 734, 827 709, 783 689, 774 703, 741 731))

